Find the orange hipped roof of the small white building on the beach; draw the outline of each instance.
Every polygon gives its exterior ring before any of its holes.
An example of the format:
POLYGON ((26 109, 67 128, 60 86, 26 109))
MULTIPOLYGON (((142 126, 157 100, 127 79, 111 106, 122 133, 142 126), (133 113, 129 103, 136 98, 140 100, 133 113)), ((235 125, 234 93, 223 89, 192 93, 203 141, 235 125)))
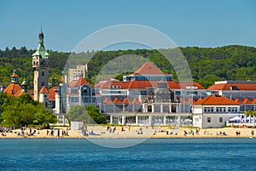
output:
POLYGON ((230 100, 221 95, 210 95, 201 101, 197 101, 194 105, 240 105, 236 101, 230 100))

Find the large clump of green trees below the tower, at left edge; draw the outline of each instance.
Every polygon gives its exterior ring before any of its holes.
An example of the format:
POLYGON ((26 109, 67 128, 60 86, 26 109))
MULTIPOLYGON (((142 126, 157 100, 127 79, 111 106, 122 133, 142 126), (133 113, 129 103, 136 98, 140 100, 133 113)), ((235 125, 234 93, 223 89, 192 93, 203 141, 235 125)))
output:
POLYGON ((0 125, 20 128, 30 125, 44 126, 56 121, 53 113, 47 111, 43 104, 32 100, 30 94, 15 98, 0 93, 0 125))

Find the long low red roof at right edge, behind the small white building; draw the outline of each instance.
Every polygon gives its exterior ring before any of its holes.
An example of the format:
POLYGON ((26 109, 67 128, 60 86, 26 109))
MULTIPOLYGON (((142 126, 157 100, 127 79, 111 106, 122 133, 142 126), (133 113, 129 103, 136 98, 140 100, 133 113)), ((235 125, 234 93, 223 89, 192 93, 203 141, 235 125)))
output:
POLYGON ((256 90, 256 83, 215 83, 208 90, 231 90, 230 88, 236 87, 238 90, 256 90))

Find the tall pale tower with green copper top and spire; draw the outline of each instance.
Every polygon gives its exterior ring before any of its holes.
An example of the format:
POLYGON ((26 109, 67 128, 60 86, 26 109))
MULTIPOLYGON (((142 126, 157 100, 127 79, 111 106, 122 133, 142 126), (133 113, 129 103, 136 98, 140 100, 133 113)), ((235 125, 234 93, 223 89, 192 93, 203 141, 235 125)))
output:
POLYGON ((45 86, 48 88, 49 54, 44 48, 44 34, 39 33, 37 51, 32 54, 32 68, 34 70, 34 100, 39 100, 39 92, 45 86))

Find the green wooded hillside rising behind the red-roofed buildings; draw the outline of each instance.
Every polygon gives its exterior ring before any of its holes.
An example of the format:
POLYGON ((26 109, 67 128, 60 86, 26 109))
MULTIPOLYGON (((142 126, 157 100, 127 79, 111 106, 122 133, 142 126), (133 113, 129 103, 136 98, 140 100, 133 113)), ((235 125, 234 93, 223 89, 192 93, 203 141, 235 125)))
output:
MULTIPOLYGON (((201 83, 205 88, 220 80, 256 80, 256 65, 254 65, 256 62, 256 48, 254 47, 230 45, 218 48, 186 47, 179 49, 188 61, 193 80, 201 83)), ((9 76, 13 70, 16 70, 20 75, 20 82, 26 77, 26 81, 32 88, 32 54, 34 51, 34 49, 26 49, 26 47, 0 50, 0 84, 8 85, 9 76)), ((61 74, 66 73, 64 71, 66 63, 67 66, 73 67, 84 65, 87 61, 83 60, 84 64, 79 62, 81 61, 79 59, 84 58, 84 56, 90 56, 91 58, 88 62, 88 81, 95 83, 96 76, 108 64, 108 61, 122 55, 143 56, 143 58, 151 60, 161 71, 172 73, 174 80, 178 81, 173 66, 163 56, 163 54, 170 54, 172 51, 173 49, 130 49, 74 54, 48 50, 50 54, 49 83, 55 85, 61 74), (73 60, 67 60, 71 56, 73 60)), ((137 61, 129 60, 129 63, 137 63, 137 61)), ((132 64, 129 65, 132 66, 132 64)), ((119 71, 118 65, 112 66, 112 68, 119 71)), ((133 71, 137 70, 137 68, 132 69, 133 71)), ((104 74, 104 72, 102 73, 104 74)), ((119 74, 117 78, 121 78, 123 73, 119 74)))

